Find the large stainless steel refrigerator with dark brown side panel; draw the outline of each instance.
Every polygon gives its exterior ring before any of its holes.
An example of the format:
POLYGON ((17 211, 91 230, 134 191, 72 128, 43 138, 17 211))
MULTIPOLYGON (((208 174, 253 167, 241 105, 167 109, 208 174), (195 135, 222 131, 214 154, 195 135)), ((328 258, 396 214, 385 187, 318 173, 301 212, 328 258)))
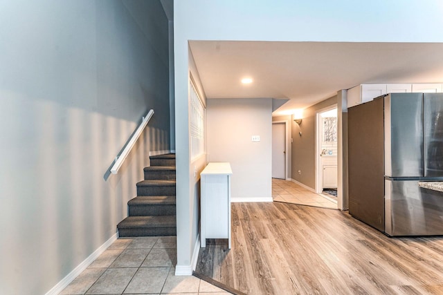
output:
POLYGON ((390 93, 348 109, 350 214, 389 236, 443 235, 443 94, 390 93))

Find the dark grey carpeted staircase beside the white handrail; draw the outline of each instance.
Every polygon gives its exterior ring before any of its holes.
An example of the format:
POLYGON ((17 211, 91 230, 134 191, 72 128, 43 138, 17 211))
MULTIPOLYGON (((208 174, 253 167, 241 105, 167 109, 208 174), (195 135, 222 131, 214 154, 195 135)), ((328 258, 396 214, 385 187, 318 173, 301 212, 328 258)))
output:
POLYGON ((175 154, 150 157, 137 196, 127 202, 129 216, 118 225, 118 236, 176 236, 175 154))

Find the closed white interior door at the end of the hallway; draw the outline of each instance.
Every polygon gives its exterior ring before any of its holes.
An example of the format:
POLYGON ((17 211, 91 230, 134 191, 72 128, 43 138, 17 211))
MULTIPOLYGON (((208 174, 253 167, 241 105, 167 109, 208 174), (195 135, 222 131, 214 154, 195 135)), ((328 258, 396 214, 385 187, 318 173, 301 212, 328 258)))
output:
POLYGON ((286 124, 272 124, 272 178, 286 179, 286 124))

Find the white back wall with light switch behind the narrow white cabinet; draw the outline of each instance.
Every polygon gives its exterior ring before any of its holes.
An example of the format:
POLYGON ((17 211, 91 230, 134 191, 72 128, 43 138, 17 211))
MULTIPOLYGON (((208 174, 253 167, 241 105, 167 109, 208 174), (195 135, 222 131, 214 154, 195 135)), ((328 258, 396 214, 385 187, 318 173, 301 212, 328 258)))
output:
POLYGON ((208 99, 207 117, 208 162, 230 162, 232 201, 271 202, 272 99, 208 99))

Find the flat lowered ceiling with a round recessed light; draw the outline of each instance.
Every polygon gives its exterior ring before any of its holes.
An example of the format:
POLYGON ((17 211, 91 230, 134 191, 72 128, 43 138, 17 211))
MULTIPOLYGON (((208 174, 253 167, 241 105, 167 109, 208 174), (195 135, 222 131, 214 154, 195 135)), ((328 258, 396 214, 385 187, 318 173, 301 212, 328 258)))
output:
POLYGON ((190 41, 206 97, 289 99, 286 115, 371 83, 443 82, 443 43, 190 41), (253 83, 242 84, 243 77, 253 83))

